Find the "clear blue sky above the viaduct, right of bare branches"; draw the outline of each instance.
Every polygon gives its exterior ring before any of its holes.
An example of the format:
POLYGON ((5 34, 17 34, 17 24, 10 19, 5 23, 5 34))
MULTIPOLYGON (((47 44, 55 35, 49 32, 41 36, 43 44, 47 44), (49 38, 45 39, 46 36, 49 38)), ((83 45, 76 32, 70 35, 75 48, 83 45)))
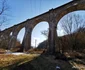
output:
POLYGON ((8 15, 10 21, 4 28, 18 24, 30 19, 52 8, 61 6, 71 0, 7 0, 9 5, 8 15))

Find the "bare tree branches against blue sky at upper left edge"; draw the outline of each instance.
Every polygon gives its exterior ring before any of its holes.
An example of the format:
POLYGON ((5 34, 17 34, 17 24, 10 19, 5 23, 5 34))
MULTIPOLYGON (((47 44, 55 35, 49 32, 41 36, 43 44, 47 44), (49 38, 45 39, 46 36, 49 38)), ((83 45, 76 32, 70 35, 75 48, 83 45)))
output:
POLYGON ((7 0, 0 0, 0 26, 7 21, 8 9, 7 0))

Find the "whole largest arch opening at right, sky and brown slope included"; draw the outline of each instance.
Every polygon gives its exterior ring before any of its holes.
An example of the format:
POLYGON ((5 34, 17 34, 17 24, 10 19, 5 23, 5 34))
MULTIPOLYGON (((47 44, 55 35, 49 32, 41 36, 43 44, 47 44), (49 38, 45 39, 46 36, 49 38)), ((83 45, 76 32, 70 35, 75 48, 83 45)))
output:
POLYGON ((60 52, 82 51, 83 49, 85 49, 84 18, 85 11, 79 10, 70 12, 60 19, 57 25, 57 49, 60 52))

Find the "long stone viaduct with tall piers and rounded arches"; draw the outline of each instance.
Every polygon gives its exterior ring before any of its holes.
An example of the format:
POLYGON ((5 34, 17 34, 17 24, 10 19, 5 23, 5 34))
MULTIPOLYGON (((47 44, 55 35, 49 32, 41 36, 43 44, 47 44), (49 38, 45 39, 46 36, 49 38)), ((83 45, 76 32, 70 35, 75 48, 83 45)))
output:
POLYGON ((22 28, 25 28, 25 34, 23 38, 23 47, 22 50, 25 52, 31 48, 31 34, 33 28, 40 22, 45 21, 48 22, 49 25, 49 35, 48 35, 48 48, 47 51, 49 54, 53 54, 55 52, 55 38, 57 38, 57 24, 59 20, 66 14, 77 11, 77 10, 85 10, 85 0, 73 0, 67 4, 64 4, 55 9, 51 9, 41 15, 33 17, 31 19, 27 19, 26 21, 14 25, 10 28, 7 28, 0 32, 0 35, 5 37, 6 35, 10 35, 12 32, 12 37, 9 40, 8 47, 9 49, 15 47, 17 35, 22 28))

